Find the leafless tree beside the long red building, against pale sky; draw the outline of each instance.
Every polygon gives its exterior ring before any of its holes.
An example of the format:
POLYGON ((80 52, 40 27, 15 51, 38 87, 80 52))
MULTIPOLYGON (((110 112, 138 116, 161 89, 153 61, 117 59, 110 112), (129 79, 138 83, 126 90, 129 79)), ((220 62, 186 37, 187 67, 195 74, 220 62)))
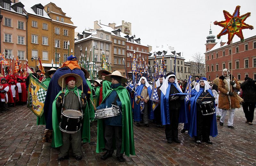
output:
POLYGON ((192 56, 192 61, 191 63, 191 69, 196 71, 197 73, 200 73, 201 71, 204 72, 204 55, 201 54, 201 52, 196 52, 192 56))

